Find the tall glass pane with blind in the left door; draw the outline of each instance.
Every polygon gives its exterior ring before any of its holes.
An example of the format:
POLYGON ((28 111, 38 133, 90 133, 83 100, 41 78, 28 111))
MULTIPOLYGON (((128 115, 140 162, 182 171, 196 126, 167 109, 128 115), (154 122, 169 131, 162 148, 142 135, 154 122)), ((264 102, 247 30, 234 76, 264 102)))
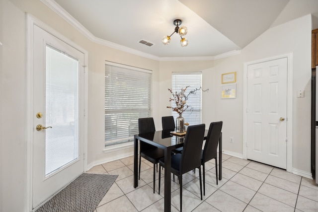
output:
POLYGON ((46 46, 45 175, 78 158, 78 68, 76 59, 46 46))

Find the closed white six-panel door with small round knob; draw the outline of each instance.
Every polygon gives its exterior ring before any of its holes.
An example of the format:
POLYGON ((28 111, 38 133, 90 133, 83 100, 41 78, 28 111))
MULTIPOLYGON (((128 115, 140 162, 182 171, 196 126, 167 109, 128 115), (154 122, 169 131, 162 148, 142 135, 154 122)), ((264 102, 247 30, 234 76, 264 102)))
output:
POLYGON ((287 58, 247 71, 247 159, 286 169, 287 58))

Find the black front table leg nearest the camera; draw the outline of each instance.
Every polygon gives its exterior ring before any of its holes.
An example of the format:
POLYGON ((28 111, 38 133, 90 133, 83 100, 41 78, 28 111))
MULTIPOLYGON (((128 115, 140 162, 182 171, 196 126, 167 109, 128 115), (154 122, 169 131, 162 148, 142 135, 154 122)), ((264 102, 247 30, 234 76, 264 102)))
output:
POLYGON ((164 149, 164 212, 171 211, 171 151, 164 149))

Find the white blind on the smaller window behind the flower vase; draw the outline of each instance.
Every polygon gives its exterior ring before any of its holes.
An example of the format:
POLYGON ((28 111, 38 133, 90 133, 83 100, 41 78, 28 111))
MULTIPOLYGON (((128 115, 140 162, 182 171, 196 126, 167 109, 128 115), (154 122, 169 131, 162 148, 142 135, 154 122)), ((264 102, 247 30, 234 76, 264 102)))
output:
MULTIPOLYGON (((172 72, 172 92, 179 93, 181 88, 185 88, 189 86, 185 95, 187 95, 190 91, 195 90, 196 88, 200 88, 202 86, 202 73, 201 72, 172 72)), ((185 123, 189 123, 189 125, 197 125, 202 123, 202 90, 199 89, 194 92, 194 94, 190 94, 188 96, 188 100, 186 104, 191 106, 186 111, 182 113, 182 117, 184 118, 185 123)), ((171 101, 171 106, 175 107, 175 103, 171 101)), ((177 112, 172 111, 171 115, 176 119, 179 114, 177 112)))

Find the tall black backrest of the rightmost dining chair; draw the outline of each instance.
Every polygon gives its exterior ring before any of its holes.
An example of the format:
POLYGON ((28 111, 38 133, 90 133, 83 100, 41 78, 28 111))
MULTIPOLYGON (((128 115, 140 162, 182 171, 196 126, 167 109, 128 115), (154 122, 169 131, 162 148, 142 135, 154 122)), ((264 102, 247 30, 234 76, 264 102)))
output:
MULTIPOLYGON (((212 122, 209 127, 207 140, 205 141, 202 162, 217 157, 217 148, 221 136, 223 122, 212 122)), ((220 152, 221 153, 221 152, 220 152)))

